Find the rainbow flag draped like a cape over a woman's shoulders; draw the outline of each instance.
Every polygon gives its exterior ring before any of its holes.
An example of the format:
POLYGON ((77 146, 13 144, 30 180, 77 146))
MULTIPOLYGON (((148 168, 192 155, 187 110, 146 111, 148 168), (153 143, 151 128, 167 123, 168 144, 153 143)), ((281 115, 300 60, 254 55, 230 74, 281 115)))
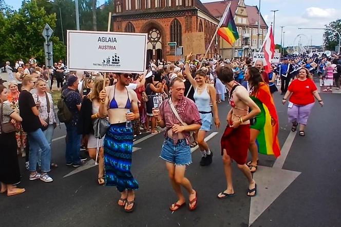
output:
POLYGON ((256 98, 263 103, 266 113, 266 121, 263 130, 257 137, 258 153, 264 155, 280 156, 280 148, 278 142, 278 116, 274 101, 272 99, 269 86, 263 82, 259 83, 256 98), (271 119, 275 122, 272 125, 271 119))

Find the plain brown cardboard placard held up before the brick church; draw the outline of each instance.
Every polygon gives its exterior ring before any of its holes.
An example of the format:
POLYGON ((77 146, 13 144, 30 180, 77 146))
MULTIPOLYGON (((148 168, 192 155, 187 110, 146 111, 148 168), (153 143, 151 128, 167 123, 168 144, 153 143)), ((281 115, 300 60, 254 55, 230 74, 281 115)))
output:
POLYGON ((203 32, 184 33, 182 35, 183 55, 186 56, 193 52, 193 54, 204 54, 205 48, 205 34, 203 32))

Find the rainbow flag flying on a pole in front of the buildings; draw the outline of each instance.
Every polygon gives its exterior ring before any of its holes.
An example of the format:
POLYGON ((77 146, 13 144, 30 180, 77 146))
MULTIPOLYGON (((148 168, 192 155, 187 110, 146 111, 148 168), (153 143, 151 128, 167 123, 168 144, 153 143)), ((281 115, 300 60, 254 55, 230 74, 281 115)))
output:
POLYGON ((220 35, 230 45, 239 39, 239 34, 236 24, 234 23, 230 7, 228 14, 222 17, 221 27, 218 29, 218 35, 220 35))

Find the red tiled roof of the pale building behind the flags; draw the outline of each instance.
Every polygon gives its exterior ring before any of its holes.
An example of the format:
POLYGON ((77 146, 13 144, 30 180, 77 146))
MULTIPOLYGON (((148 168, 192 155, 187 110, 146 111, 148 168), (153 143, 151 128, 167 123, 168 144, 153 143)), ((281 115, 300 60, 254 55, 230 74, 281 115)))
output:
MULTIPOLYGON (((228 0, 228 1, 204 3, 203 5, 210 11, 210 13, 213 16, 221 17, 222 14, 224 13, 226 7, 229 5, 230 2, 231 2, 231 12, 233 14, 235 14, 239 0, 228 0)), ((245 7, 247 8, 247 13, 249 16, 249 24, 255 25, 255 23, 258 22, 258 8, 257 8, 257 6, 245 5, 245 7)), ((265 23, 262 16, 260 17, 260 25, 268 27, 268 25, 265 23)))

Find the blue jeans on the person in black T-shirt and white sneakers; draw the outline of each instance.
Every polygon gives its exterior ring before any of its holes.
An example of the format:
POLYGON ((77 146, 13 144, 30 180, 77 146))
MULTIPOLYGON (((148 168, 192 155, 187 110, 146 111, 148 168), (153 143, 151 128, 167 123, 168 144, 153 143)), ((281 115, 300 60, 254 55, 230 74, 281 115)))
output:
POLYGON ((29 163, 30 163, 30 172, 36 171, 36 164, 39 160, 39 150, 42 150, 41 153, 41 163, 42 163, 42 172, 47 173, 50 172, 51 165, 51 148, 50 144, 47 142, 46 137, 42 131, 42 129, 37 129, 35 131, 31 131, 27 133, 28 143, 30 144, 30 154, 29 154, 29 163))

